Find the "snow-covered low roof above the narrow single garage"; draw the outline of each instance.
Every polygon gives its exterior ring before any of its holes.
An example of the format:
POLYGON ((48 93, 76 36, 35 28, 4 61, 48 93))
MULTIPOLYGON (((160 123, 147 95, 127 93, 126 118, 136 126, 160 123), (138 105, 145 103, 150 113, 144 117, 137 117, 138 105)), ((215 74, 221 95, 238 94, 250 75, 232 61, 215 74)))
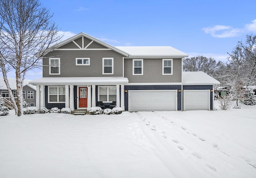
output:
POLYGON ((199 72, 182 72, 183 85, 216 85, 220 82, 206 73, 199 72))

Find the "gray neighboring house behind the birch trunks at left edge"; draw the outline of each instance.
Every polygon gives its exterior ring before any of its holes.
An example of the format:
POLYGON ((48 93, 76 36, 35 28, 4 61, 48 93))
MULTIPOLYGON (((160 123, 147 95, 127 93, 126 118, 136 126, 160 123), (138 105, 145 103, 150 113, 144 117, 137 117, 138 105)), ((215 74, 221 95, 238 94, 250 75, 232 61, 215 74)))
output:
MULTIPOLYGON (((10 88, 12 89, 12 94, 14 99, 17 100, 16 95, 16 78, 8 78, 10 88)), ((36 87, 28 84, 30 80, 24 79, 23 82, 23 99, 27 102, 28 106, 36 106, 36 87)), ((2 97, 10 100, 10 96, 4 82, 4 78, 0 77, 0 94, 2 97)))

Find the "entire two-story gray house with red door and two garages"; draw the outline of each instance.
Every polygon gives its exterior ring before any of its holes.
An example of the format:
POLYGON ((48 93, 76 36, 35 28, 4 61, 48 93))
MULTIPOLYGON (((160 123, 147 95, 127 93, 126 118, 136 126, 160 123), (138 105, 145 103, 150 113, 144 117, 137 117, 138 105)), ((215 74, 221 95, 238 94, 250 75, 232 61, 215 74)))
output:
POLYGON ((182 72, 184 57, 170 46, 113 47, 80 33, 44 54, 43 78, 30 84, 36 106, 48 109, 212 110, 219 82, 203 72, 182 72))

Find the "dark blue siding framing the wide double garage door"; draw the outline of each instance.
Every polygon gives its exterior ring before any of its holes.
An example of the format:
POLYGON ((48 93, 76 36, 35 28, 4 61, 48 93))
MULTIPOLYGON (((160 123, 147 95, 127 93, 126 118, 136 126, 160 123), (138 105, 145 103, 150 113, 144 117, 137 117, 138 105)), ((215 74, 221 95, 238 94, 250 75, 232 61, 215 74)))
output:
MULTIPOLYGON (((124 86, 124 109, 128 110, 128 103, 129 103, 129 96, 128 91, 129 90, 181 90, 181 85, 125 85, 124 86)), ((178 110, 181 110, 181 95, 182 93, 178 92, 178 98, 177 98, 177 108, 178 110)))

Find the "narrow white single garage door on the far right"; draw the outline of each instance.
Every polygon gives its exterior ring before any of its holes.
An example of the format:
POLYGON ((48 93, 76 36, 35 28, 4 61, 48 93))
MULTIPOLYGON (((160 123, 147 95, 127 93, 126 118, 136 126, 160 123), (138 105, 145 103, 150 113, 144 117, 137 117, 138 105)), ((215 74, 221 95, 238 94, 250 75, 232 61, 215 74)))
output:
POLYGON ((210 110, 210 90, 183 90, 183 110, 210 110))

